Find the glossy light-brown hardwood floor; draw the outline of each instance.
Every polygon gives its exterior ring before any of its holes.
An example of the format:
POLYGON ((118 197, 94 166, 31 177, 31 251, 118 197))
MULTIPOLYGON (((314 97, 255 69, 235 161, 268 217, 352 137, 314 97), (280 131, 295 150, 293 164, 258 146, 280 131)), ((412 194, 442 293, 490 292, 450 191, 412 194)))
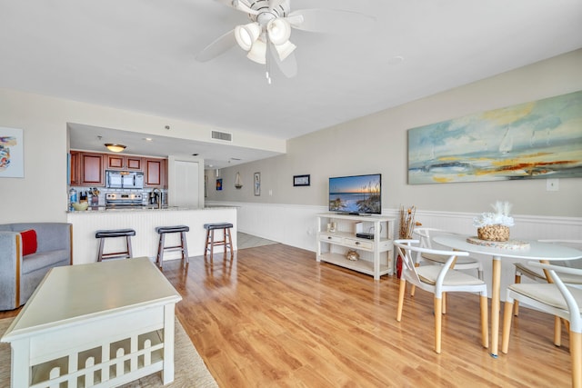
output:
MULTIPOLYGON (((567 333, 523 306, 509 353, 480 344, 477 294, 448 294, 442 353, 433 351, 432 294, 406 296, 396 322, 398 280, 316 263, 283 244, 165 263, 184 300, 176 315, 221 387, 569 386, 567 333)), ((0 318, 17 313, 0 313, 0 318)))

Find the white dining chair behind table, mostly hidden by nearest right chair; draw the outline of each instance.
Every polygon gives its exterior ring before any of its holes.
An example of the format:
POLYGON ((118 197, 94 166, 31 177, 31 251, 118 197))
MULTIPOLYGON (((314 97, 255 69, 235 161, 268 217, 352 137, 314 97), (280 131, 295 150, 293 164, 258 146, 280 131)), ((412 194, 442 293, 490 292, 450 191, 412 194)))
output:
MULTIPOLYGON (((551 239, 551 240, 537 240, 540 243, 551 243, 551 244, 562 244, 567 246, 572 246, 574 248, 580 249, 582 248, 582 240, 563 240, 563 239, 551 239)), ((555 265, 561 265, 566 267, 573 267, 573 268, 582 268, 582 260, 566 260, 563 262, 555 261, 552 262, 555 265)), ((515 282, 516 284, 521 283, 522 276, 526 276, 528 279, 531 279, 536 282, 541 283, 551 283, 552 280, 547 278, 547 275, 541 268, 532 268, 527 264, 523 263, 515 263, 516 266, 516 274, 515 274, 515 282)), ((582 276, 574 275, 574 274, 562 274, 560 276, 562 282, 566 284, 582 284, 582 276)), ((515 316, 519 315, 519 302, 516 301, 513 305, 513 314, 515 316)), ((559 317, 556 317, 556 322, 554 323, 554 344, 556 346, 560 346, 562 344, 561 340, 562 336, 562 320, 559 317)))

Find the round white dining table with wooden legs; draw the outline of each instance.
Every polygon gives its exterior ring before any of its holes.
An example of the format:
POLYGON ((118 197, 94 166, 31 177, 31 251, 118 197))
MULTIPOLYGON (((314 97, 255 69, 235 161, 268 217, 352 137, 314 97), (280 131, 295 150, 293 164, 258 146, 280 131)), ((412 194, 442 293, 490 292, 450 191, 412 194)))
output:
MULTIPOLYGON (((522 247, 494 247, 469 243, 468 238, 475 238, 468 235, 451 234, 436 236, 433 241, 437 244, 449 248, 465 251, 472 254, 485 254, 491 256, 491 355, 497 357, 499 341, 499 307, 501 293, 501 259, 514 258, 522 260, 553 261, 553 260, 575 260, 582 258, 582 251, 575 248, 551 244, 540 243, 535 240, 519 240, 517 246, 522 247)), ((510 245, 511 246, 511 245, 510 245)))

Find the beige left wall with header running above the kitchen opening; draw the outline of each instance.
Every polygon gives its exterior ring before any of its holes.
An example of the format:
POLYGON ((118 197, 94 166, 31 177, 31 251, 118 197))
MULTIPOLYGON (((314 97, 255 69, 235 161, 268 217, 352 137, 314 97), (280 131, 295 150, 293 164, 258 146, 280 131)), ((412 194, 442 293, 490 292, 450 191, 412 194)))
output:
MULTIPOLYGON (((25 177, 0 178, 0 224, 65 222, 68 139, 66 124, 80 123, 130 132, 207 141, 213 127, 106 106, 78 103, 0 88, 0 126, 24 130, 25 177), (165 129, 170 125, 171 131, 165 129)), ((232 145, 285 152, 282 140, 246 132, 232 145)))

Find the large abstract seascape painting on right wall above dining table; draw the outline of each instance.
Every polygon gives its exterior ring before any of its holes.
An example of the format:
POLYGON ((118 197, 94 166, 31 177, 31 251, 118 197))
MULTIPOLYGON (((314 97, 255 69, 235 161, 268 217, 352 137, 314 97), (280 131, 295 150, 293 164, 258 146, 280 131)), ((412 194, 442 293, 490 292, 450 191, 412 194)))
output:
POLYGON ((582 176, 582 91, 408 130, 408 184, 582 176))

